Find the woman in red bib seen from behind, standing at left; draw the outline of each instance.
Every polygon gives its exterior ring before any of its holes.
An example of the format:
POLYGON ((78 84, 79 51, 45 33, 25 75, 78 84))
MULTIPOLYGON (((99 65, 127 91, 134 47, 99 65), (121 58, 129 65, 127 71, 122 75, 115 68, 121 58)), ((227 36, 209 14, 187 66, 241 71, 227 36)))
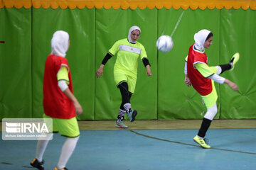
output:
MULTIPOLYGON (((67 137, 54 170, 66 169, 65 165, 73 154, 80 135, 75 116, 82 114, 82 107, 73 95, 70 68, 65 58, 69 45, 67 32, 58 30, 53 34, 52 52, 46 59, 43 76, 43 118, 52 118, 53 132, 60 132, 60 135, 67 137)), ((52 136, 52 133, 48 135, 48 139, 52 136)), ((43 153, 49 140, 38 140, 36 158, 31 162, 31 166, 44 169, 43 153)))

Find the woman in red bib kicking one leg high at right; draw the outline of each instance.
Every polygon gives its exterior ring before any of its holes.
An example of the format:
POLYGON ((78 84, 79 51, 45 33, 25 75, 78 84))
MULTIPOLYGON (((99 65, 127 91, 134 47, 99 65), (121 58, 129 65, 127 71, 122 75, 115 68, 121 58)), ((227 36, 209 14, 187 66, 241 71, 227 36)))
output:
POLYGON ((186 57, 185 64, 185 84, 187 86, 193 86, 196 91, 202 96, 204 103, 206 104, 207 112, 203 117, 203 122, 198 135, 193 140, 201 145, 203 148, 210 148, 206 144, 204 137, 210 123, 214 116, 218 112, 216 105, 217 93, 214 86, 214 81, 219 84, 228 84, 234 91, 238 91, 238 86, 232 81, 220 77, 219 74, 227 70, 233 70, 235 63, 238 62, 240 55, 235 53, 228 64, 219 65, 216 67, 209 67, 207 63, 207 56, 205 48, 209 48, 212 45, 213 33, 210 30, 200 30, 194 35, 195 43, 189 47, 188 56, 186 57))

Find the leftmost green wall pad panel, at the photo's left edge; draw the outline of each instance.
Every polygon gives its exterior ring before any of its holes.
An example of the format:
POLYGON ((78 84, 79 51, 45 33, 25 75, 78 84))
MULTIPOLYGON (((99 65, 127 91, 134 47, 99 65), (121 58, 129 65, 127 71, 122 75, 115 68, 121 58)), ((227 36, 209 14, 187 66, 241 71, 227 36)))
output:
POLYGON ((31 118, 31 8, 0 8, 0 119, 31 118))

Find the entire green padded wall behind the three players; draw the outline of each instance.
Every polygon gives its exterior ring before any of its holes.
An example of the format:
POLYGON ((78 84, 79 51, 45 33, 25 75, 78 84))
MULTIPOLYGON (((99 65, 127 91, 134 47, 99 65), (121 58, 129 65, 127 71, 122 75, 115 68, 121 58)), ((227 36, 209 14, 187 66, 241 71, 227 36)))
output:
POLYGON ((0 8, 0 118, 40 118, 43 114, 43 71, 55 30, 70 34, 67 59, 74 94, 84 113, 79 120, 114 120, 121 95, 114 84, 112 57, 97 79, 95 72, 114 42, 127 38, 131 26, 142 29, 139 42, 146 47, 152 77, 141 61, 132 107, 137 120, 199 119, 206 113, 201 96, 184 81, 184 58, 193 35, 206 28, 213 32, 213 45, 206 50, 210 66, 225 64, 235 52, 241 58, 223 77, 238 84, 235 93, 227 84, 216 84, 218 115, 215 118, 256 118, 256 12, 248 9, 143 10, 0 8), (182 16, 182 17, 181 17, 182 16), (179 20, 180 19, 180 20, 179 20), (156 50, 160 35, 171 35, 169 53, 156 50))

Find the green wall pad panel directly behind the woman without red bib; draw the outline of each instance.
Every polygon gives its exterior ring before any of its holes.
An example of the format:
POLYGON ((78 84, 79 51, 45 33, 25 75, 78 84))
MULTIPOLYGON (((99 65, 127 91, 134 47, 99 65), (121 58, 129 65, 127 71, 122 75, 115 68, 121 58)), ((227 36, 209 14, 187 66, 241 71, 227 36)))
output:
MULTIPOLYGON (((96 37, 95 37, 95 72, 100 67, 107 51, 119 39, 127 38, 131 26, 137 25, 142 34, 139 42, 146 48, 151 63, 152 77, 146 76, 146 69, 139 61, 137 86, 132 96, 132 108, 138 111, 137 120, 157 118, 157 10, 97 9, 96 10, 96 37)), ((121 104, 121 94, 115 86, 113 67, 116 56, 112 57, 104 67, 103 76, 95 81, 95 119, 116 119, 121 104)))

